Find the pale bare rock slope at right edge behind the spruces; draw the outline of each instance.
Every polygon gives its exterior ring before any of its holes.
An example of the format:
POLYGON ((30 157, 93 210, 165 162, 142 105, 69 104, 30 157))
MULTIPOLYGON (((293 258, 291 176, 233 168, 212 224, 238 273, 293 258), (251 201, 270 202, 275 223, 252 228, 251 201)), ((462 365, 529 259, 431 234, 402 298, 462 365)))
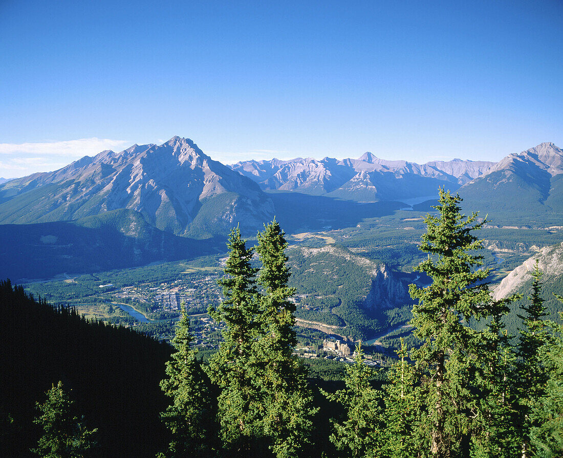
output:
POLYGON ((494 290, 494 299, 499 300, 508 297, 515 293, 526 281, 530 280, 536 259, 538 260, 539 270, 544 273, 543 280, 549 281, 550 277, 563 275, 563 244, 546 246, 502 279, 494 290))

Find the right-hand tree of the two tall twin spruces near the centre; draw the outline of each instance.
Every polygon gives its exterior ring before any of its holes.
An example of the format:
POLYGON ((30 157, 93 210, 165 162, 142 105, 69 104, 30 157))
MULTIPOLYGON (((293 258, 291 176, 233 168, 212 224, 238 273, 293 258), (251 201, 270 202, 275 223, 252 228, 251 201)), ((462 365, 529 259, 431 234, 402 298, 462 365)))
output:
POLYGON ((297 456, 307 442, 316 409, 307 386, 306 372, 292 356, 296 344, 294 294, 288 288, 287 241, 277 221, 258 233, 256 251, 262 263, 258 284, 260 337, 254 342, 254 354, 261 373, 256 379, 264 406, 264 435, 278 458, 297 456))

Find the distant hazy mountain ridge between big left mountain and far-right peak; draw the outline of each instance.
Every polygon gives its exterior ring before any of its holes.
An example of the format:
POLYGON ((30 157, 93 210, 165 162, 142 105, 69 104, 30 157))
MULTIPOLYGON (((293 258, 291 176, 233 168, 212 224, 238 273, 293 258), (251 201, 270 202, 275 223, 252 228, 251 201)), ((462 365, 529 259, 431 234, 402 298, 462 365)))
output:
POLYGON ((230 167, 256 181, 263 190, 298 191, 360 201, 397 200, 453 190, 493 167, 489 161, 432 161, 416 164, 379 159, 366 152, 358 159, 296 158, 249 160, 230 167))

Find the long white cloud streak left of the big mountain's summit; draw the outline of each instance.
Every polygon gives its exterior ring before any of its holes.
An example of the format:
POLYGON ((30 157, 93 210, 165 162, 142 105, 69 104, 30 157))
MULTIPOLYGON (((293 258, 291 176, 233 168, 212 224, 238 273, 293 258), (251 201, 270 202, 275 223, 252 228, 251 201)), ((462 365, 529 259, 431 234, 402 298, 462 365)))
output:
POLYGON ((44 154, 82 158, 103 150, 122 150, 127 146, 129 142, 124 140, 93 137, 55 142, 0 143, 0 154, 44 154))

